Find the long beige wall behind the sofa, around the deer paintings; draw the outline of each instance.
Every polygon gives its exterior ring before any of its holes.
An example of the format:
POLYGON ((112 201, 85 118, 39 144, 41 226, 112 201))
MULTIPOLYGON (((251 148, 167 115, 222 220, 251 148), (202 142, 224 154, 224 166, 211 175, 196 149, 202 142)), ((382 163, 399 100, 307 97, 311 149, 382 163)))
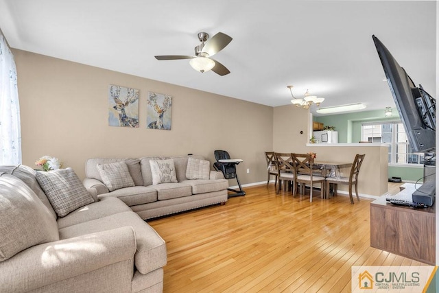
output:
MULTIPOLYGON (((273 148, 273 108, 13 50, 19 75, 23 164, 56 156, 84 178, 93 157, 200 154, 244 159, 241 183, 266 180, 264 152, 273 148), (108 126, 108 85, 140 90, 139 128, 108 126), (146 128, 147 92, 173 97, 172 129, 146 128), (246 169, 250 168, 250 174, 246 169)), ((202 76, 200 76, 202 78, 202 76)), ((230 180, 230 185, 236 185, 230 180)))

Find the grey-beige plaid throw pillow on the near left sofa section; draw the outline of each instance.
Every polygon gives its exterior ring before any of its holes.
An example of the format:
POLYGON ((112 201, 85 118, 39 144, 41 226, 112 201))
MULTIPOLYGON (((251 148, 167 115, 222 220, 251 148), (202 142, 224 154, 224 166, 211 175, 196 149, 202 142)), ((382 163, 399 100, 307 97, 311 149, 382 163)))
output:
POLYGON ((71 168, 49 172, 38 171, 36 172, 36 180, 60 217, 95 202, 71 168))

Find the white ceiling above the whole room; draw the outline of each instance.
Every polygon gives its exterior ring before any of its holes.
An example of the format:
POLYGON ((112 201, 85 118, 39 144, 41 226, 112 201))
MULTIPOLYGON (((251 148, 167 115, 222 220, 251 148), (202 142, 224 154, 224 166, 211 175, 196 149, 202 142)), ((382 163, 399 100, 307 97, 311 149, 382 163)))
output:
MULTIPOLYGON (((0 0, 11 47, 268 106, 287 85, 324 106, 394 106, 372 34, 436 97, 435 1, 0 0), (198 32, 232 42, 215 59, 231 73, 198 73, 198 32)), ((314 112, 315 108, 311 109, 314 112)))

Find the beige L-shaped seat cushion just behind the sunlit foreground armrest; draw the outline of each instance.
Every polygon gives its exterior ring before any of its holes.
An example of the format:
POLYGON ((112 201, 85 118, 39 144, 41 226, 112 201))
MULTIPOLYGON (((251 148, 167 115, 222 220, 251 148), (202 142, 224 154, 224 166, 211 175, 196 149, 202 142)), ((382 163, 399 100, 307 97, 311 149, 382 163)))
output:
POLYGON ((137 213, 128 211, 84 222, 60 229, 60 239, 67 239, 88 233, 107 231, 123 226, 132 226, 137 243, 134 264, 142 274, 165 266, 167 262, 165 241, 137 213))

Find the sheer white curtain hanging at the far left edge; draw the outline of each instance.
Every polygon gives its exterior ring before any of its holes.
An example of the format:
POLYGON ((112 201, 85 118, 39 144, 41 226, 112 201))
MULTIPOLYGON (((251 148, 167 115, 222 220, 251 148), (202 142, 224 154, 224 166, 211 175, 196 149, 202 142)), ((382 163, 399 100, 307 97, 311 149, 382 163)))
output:
POLYGON ((0 31, 0 165, 21 163, 19 91, 14 56, 0 31))

